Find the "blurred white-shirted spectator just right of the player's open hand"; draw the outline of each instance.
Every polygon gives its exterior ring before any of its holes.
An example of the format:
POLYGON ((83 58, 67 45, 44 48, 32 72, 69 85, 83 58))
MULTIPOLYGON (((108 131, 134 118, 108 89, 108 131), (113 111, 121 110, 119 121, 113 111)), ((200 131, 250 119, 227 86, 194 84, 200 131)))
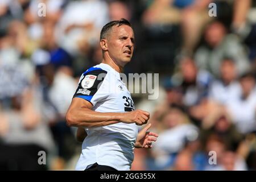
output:
POLYGON ((197 127, 189 122, 187 115, 177 108, 164 113, 159 125, 162 130, 159 130, 158 143, 152 155, 155 156, 155 167, 163 170, 172 166, 175 155, 184 147, 185 139, 194 138, 198 133, 197 127))

